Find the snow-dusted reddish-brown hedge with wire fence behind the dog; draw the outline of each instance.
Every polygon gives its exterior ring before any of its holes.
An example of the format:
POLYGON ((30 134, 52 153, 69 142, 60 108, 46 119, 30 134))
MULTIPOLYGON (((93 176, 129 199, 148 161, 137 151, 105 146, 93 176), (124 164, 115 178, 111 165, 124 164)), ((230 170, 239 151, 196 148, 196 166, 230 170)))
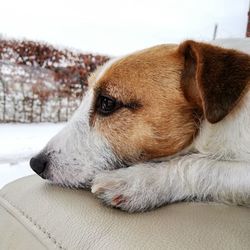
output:
POLYGON ((0 122, 67 121, 107 57, 0 40, 0 122))

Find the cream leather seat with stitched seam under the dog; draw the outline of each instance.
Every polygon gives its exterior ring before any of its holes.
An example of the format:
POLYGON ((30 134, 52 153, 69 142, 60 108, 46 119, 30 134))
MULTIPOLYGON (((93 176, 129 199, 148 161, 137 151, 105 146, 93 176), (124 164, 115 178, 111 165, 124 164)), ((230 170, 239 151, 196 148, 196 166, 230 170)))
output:
POLYGON ((0 191, 0 249, 250 249, 250 209, 179 203, 143 214, 29 176, 0 191))

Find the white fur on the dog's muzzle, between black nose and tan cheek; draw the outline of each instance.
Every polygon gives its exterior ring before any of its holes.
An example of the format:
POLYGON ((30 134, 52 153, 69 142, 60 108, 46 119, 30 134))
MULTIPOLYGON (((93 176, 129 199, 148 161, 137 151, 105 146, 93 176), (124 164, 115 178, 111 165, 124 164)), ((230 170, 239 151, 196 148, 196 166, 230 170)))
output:
POLYGON ((93 90, 90 89, 67 126, 52 138, 43 154, 49 157, 45 177, 70 187, 88 187, 94 175, 113 169, 116 161, 108 142, 90 127, 93 90))

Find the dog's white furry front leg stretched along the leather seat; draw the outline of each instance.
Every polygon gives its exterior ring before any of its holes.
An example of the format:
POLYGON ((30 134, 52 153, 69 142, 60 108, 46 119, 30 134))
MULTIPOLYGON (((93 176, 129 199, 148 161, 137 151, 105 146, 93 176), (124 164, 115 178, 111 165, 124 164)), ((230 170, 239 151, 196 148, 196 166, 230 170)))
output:
POLYGON ((192 154, 98 174, 92 192, 105 204, 129 212, 190 199, 246 205, 250 203, 250 164, 192 154))

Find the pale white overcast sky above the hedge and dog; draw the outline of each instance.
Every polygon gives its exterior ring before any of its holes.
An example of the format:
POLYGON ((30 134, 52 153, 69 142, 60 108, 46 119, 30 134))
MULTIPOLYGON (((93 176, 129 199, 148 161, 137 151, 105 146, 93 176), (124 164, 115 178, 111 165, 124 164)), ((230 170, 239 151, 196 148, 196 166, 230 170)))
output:
POLYGON ((121 55, 184 39, 244 37, 249 0, 1 0, 0 33, 121 55))

